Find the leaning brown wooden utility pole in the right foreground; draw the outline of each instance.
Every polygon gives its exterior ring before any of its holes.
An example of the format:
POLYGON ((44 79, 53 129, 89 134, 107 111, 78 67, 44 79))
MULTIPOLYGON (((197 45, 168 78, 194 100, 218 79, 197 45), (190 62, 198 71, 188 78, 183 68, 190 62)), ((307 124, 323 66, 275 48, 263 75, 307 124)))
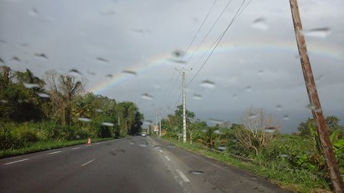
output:
POLYGON ((301 18, 297 0, 290 0, 290 8, 292 10, 292 21, 294 23, 295 36, 297 38, 297 48, 299 49, 303 77, 305 78, 305 87, 307 89, 310 105, 312 106, 312 115, 317 124, 323 155, 325 157, 327 168, 330 171, 330 177, 334 190, 336 192, 343 192, 343 179, 341 177, 341 172, 339 172, 336 157, 334 156, 330 137, 327 133, 326 122, 323 117, 323 110, 321 109, 318 92, 316 91, 312 68, 310 66, 310 59, 308 58, 307 47, 305 45, 305 37, 302 33, 301 18))

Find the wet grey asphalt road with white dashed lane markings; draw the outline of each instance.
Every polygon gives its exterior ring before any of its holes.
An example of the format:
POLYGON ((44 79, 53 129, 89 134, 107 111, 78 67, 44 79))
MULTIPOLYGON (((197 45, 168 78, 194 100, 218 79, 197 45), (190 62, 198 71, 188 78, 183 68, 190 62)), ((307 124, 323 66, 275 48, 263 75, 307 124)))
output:
POLYGON ((0 192, 286 192, 151 137, 0 159, 0 192))

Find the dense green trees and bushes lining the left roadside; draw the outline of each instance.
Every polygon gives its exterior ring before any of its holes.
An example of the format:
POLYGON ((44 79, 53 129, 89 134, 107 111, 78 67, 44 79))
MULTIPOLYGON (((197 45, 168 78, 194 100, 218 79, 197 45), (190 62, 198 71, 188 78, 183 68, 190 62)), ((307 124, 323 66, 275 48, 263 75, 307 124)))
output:
POLYGON ((135 134, 143 115, 133 102, 117 102, 85 93, 74 76, 0 67, 0 149, 31 146, 38 141, 135 134))

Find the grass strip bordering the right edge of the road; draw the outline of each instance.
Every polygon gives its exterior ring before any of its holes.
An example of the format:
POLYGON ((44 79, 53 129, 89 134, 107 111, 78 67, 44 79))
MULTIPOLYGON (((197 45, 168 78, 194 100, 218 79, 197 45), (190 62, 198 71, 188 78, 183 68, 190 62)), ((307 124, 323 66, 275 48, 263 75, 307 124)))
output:
POLYGON ((200 144, 184 144, 175 139, 161 139, 191 152, 196 152, 200 155, 204 155, 205 157, 222 161, 231 166, 236 166, 237 168, 258 174, 268 179, 271 183, 275 183, 281 188, 292 192, 330 192, 328 184, 322 177, 312 174, 311 172, 308 172, 308 170, 290 168, 287 164, 280 161, 269 161, 266 163, 264 159, 260 159, 259 157, 252 162, 241 161, 237 157, 231 156, 226 151, 218 152, 208 150, 200 144))

